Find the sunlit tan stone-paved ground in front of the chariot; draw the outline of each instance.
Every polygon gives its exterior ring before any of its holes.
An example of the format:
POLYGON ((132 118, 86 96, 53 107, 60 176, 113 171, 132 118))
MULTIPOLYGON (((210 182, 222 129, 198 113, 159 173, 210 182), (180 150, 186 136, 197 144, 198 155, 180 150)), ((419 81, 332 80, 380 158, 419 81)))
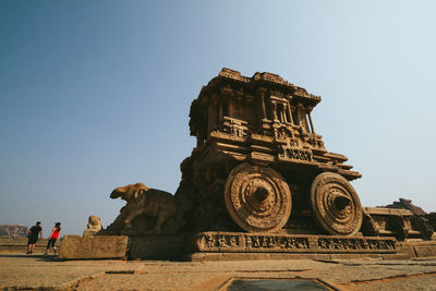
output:
POLYGON ((317 278, 338 290, 436 290, 436 257, 323 262, 58 262, 53 256, 0 253, 0 289, 5 290, 218 290, 231 278, 317 278))

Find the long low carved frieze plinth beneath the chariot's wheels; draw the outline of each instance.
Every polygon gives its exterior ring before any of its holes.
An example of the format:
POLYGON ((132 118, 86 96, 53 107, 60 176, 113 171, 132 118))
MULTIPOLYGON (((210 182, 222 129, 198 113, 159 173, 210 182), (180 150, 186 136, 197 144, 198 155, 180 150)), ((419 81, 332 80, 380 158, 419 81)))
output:
POLYGON ((201 232, 187 238, 186 252, 386 254, 398 251, 395 238, 201 232))

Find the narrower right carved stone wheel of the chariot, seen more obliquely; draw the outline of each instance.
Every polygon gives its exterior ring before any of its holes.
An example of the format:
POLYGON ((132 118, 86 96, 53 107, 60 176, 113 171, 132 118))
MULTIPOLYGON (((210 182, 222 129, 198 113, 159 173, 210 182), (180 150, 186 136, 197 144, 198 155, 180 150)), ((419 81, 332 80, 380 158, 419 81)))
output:
POLYGON ((353 186, 340 174, 318 174, 311 189, 311 202, 318 223, 334 235, 355 234, 363 220, 361 202, 353 186))

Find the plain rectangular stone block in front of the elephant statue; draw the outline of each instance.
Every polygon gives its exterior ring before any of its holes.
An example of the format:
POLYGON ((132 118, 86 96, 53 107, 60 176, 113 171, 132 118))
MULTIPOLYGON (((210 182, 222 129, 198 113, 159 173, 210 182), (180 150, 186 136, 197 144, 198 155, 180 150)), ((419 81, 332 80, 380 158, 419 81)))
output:
POLYGON ((125 258, 126 250, 128 237, 124 235, 65 235, 58 258, 125 258))

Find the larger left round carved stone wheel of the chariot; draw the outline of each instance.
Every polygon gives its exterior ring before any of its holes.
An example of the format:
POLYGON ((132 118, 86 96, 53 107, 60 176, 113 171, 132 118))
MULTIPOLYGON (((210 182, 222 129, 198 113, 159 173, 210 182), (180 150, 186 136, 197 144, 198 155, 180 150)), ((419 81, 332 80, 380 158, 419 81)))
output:
POLYGON ((250 232, 281 229, 292 207, 291 192, 284 179, 271 168, 247 162, 230 172, 225 199, 234 222, 250 232))

